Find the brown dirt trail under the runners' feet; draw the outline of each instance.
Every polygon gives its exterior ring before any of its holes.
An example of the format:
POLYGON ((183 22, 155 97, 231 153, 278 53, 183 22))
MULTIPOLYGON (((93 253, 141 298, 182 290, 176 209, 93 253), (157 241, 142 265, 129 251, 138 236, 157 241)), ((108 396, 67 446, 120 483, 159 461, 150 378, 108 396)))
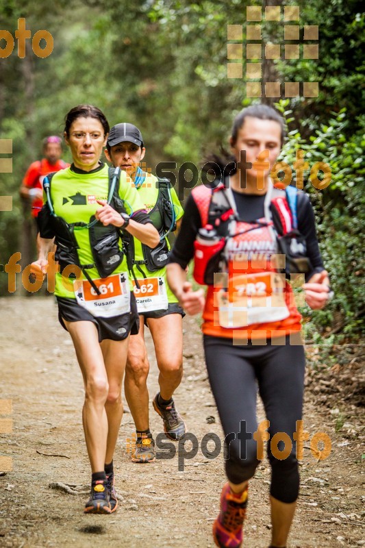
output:
MULTIPOLYGON (((13 461, 13 471, 0 477, 0 546, 87 548, 99 540, 103 546, 115 541, 115 546, 128 548, 213 547, 212 521, 225 481, 223 452, 209 460, 199 447, 194 458, 184 461, 184 471, 178 470, 178 456, 133 464, 126 451, 134 432, 128 412, 114 459, 119 510, 112 516, 84 516, 90 472, 81 427, 84 391, 71 340, 58 324, 53 297, 0 299, 0 312, 0 399, 13 401, 13 431, 0 434, 0 456, 13 461), (51 488, 55 483, 74 485, 75 494, 51 488)), ((223 440, 195 319, 184 319, 184 349, 185 376, 176 393, 177 407, 199 445, 209 432, 223 440), (207 422, 209 416, 214 423, 207 422)), ((157 390, 156 370, 151 358, 150 399, 157 390)), ((304 450, 299 508, 288 546, 365 546, 361 408, 342 401, 335 410, 318 404, 323 393, 314 391, 315 384, 312 377, 305 429, 311 437, 326 432, 332 451, 318 462, 304 450)), ((150 414, 156 435, 162 424, 151 405, 150 414)), ((263 418, 261 408, 259 414, 263 418)), ((190 448, 186 443, 186 451, 190 448)), ((182 445, 180 449, 183 462, 182 445)), ((251 481, 245 548, 269 545, 269 477, 264 461, 251 481)))

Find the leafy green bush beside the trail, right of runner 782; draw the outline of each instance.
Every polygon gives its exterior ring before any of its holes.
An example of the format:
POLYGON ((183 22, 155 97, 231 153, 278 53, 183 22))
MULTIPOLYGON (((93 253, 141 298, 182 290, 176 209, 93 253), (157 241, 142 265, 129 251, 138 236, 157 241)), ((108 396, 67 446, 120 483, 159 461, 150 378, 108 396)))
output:
MULTIPOLYGON (((285 110, 288 99, 277 104, 277 108, 286 116, 292 114, 290 109, 285 110)), ((290 118, 287 121, 290 123, 290 118)), ((350 121, 346 109, 333 112, 309 142, 297 129, 289 132, 290 140, 281 155, 282 160, 293 166, 296 151, 304 151, 304 160, 308 162, 305 190, 312 199, 320 251, 335 293, 325 310, 314 312, 305 307, 302 311, 310 320, 306 338, 312 340, 326 329, 341 333, 342 338, 357 338, 364 329, 364 117, 360 117, 360 123, 360 130, 347 136, 350 121), (331 182, 323 190, 310 181, 310 169, 316 162, 325 162, 331 169, 331 182)))

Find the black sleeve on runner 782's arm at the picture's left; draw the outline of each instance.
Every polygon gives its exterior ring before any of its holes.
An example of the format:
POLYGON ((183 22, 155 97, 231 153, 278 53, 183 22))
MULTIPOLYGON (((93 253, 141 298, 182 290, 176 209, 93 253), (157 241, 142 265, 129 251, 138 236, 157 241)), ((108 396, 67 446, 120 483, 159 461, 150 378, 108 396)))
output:
POLYGON ((201 228, 200 213, 197 204, 194 202, 194 198, 190 194, 186 201, 179 234, 177 235, 173 249, 171 249, 168 262, 177 262, 181 266, 181 269, 186 268, 194 257, 194 241, 199 228, 201 228))

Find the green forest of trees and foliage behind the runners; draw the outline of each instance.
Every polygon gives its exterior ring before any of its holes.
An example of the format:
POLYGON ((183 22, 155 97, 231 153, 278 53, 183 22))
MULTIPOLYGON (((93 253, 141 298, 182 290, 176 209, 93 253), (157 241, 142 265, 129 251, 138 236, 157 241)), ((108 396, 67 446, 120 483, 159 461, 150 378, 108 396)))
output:
MULTIPOLYGON (((30 162, 40 159, 40 142, 62 136, 64 114, 79 103, 95 104, 110 125, 121 121, 142 129, 147 165, 176 162, 181 196, 184 163, 203 163, 207 151, 226 144, 237 112, 260 102, 246 96, 245 79, 227 77, 227 25, 242 25, 246 50, 247 5, 281 7, 281 21, 263 21, 262 45, 284 43, 284 6, 299 6, 304 25, 318 25, 319 58, 256 60, 265 82, 318 82, 318 97, 266 98, 283 112, 289 140, 281 159, 293 166, 295 151, 305 151, 311 167, 327 162, 331 182, 314 188, 305 171, 318 222, 323 260, 335 292, 325 311, 303 307, 307 340, 328 350, 356 342, 364 327, 364 12, 357 0, 173 1, 30 0, 0 1, 0 29, 13 36, 25 17, 32 36, 47 29, 54 46, 38 58, 27 40, 25 58, 0 59, 0 138, 12 139, 12 173, 0 173, 0 196, 13 206, 0 212, 0 264, 21 250, 27 229, 18 196, 30 162), (183 168, 181 168, 183 166, 183 168)), ((260 23, 260 24, 261 24, 260 23)), ((257 23, 259 24, 259 23, 257 23)), ((236 40, 237 41, 237 40, 236 40)), ((317 42, 316 42, 317 43, 317 42)), ((42 44, 41 44, 42 45, 42 44)), ((0 41, 5 47, 5 41, 0 41)), ((264 51, 264 47, 262 48, 264 51)), ((245 60, 242 62, 245 74, 245 60)), ((229 61, 231 62, 231 61, 229 61)), ((68 151, 65 160, 71 160, 68 151)), ((188 191, 185 191, 185 197, 188 191)), ((24 265, 25 266, 25 265, 24 265)), ((20 290, 20 289, 19 289, 20 290)), ((8 293, 1 272, 0 295, 8 293)))

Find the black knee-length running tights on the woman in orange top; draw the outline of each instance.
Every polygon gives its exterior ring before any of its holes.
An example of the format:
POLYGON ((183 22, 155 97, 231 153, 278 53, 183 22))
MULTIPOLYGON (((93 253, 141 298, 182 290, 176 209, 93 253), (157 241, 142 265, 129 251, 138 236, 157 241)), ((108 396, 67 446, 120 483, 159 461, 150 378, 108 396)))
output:
MULTIPOLYGON (((253 438, 257 430, 258 385, 266 419, 270 421, 270 439, 278 432, 285 432, 292 442, 292 450, 284 460, 275 458, 275 454, 284 453, 273 451, 273 455, 267 442, 272 469, 270 494, 281 502, 294 502, 299 493, 299 471, 293 434, 296 421, 302 416, 303 345, 290 345, 290 336, 286 336, 285 345, 273 345, 270 339, 267 345, 253 345, 251 341, 248 345, 234 345, 232 339, 207 335, 203 342, 210 386, 226 439, 231 439, 229 458, 225 461, 229 481, 234 484, 247 481, 260 464, 253 438), (245 423, 240 424, 241 421, 245 423)), ((277 449, 286 449, 285 442, 279 442, 277 449)))

